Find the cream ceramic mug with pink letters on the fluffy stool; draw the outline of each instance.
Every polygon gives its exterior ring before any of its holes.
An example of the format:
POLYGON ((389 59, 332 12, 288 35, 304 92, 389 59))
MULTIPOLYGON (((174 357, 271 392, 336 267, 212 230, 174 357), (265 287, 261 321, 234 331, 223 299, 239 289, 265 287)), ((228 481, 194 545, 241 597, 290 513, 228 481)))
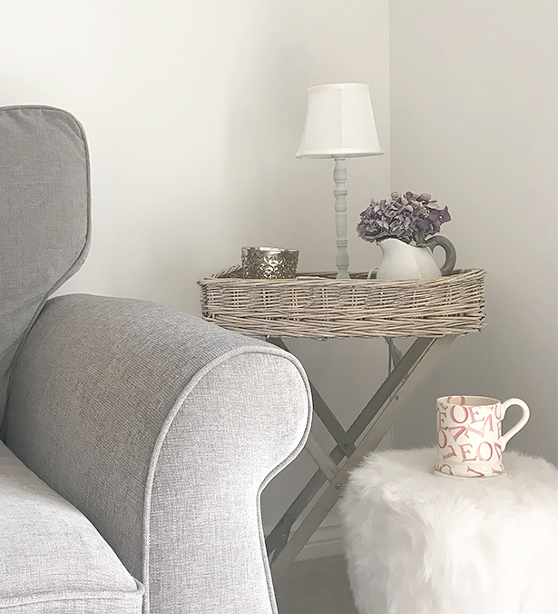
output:
POLYGON ((502 452, 528 420, 529 408, 521 399, 502 402, 488 397, 440 397, 436 400, 434 469, 462 478, 487 478, 504 473, 502 452), (512 405, 519 405, 524 415, 503 436, 502 421, 512 405))

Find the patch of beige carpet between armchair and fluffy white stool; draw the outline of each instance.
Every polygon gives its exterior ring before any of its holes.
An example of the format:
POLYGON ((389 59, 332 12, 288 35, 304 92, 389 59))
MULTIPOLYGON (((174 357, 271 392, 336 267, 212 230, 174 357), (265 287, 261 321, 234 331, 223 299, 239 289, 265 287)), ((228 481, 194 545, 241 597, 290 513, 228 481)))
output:
POLYGON ((279 614, 357 614, 342 556, 299 561, 289 576, 276 586, 279 614))

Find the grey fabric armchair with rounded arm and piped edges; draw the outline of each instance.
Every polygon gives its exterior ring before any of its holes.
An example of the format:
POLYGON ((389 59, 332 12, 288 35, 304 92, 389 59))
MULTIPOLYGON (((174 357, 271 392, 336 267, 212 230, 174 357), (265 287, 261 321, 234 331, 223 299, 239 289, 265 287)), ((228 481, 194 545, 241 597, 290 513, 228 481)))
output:
POLYGON ((308 435, 306 376, 151 302, 47 302, 89 200, 73 116, 0 109, 0 614, 275 612, 259 494, 308 435))

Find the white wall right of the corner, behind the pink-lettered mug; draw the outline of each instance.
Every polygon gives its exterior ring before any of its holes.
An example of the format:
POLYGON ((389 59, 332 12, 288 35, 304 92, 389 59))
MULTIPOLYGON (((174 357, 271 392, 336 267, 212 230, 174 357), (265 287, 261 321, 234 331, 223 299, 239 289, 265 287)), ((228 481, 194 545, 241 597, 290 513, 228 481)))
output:
POLYGON ((396 445, 434 442, 437 395, 521 397, 532 418, 510 446, 556 462, 557 3, 390 10, 392 187, 447 204, 458 265, 488 271, 487 328, 455 342, 396 445))

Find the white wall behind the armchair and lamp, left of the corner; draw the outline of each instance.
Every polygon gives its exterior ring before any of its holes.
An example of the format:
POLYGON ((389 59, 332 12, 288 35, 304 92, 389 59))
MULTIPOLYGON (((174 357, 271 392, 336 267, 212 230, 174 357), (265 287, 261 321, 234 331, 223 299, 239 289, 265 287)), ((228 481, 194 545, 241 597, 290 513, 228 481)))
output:
MULTIPOLYGON (((348 161, 349 227, 389 192, 387 0, 4 0, 1 16, 0 104, 63 107, 89 138, 93 245, 63 292, 199 313, 196 280, 242 245, 333 269, 333 162, 294 157, 309 85, 371 85, 387 154, 348 161)), ((355 234, 349 251, 377 262, 355 234)), ((381 381, 381 346, 293 343, 345 423, 381 381)), ((268 524, 313 470, 303 454, 269 487, 268 524)))

